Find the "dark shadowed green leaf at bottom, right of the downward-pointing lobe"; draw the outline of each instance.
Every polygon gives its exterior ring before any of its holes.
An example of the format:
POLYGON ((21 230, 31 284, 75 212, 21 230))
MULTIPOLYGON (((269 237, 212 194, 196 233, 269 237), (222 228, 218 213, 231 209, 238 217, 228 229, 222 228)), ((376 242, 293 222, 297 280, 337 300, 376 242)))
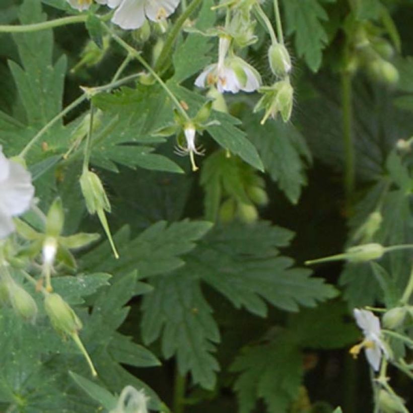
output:
POLYGON ((253 411, 261 398, 268 411, 287 413, 301 385, 303 362, 294 342, 280 334, 277 340, 245 348, 231 371, 239 373, 234 390, 240 413, 253 411))

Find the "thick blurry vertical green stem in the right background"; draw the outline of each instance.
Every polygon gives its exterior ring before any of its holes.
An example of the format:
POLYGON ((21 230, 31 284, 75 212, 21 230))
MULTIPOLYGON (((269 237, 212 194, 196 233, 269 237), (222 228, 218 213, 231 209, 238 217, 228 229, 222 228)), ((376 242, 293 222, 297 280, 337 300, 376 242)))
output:
POLYGON ((352 75, 341 74, 342 132, 345 154, 344 187, 346 192, 347 213, 351 206, 355 186, 355 153, 352 135, 352 75))

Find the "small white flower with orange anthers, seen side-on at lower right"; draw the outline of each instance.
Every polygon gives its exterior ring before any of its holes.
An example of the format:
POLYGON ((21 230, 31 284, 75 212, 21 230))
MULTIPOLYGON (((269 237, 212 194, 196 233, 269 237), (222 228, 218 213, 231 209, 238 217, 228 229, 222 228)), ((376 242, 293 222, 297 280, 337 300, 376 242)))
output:
POLYGON ((381 339, 380 320, 371 311, 354 309, 354 317, 357 325, 363 330, 364 340, 357 346, 354 346, 350 353, 357 357, 360 350, 364 348, 366 357, 371 367, 375 371, 380 368, 382 353, 389 358, 388 351, 381 339))

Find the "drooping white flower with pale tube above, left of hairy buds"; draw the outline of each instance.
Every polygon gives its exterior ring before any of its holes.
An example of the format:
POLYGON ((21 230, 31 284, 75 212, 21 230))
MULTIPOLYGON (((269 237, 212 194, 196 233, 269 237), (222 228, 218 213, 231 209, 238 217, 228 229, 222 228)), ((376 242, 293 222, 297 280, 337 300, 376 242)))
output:
POLYGON ((216 85, 220 93, 253 92, 259 88, 261 77, 254 67, 240 57, 226 57, 229 45, 227 37, 220 37, 218 63, 206 66, 196 78, 195 86, 204 88, 216 85))

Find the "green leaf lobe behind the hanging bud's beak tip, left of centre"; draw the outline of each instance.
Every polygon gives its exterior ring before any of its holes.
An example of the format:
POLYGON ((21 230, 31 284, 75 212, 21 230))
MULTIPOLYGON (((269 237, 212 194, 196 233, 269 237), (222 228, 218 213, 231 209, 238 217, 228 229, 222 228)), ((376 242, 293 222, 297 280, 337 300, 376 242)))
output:
POLYGON ((110 271, 115 274, 139 270, 140 278, 170 272, 184 264, 180 255, 195 247, 195 242, 205 235, 212 224, 184 220, 167 225, 159 221, 136 238, 130 240, 126 227, 114 237, 120 258, 112 259, 107 242, 82 257, 85 268, 110 271))

